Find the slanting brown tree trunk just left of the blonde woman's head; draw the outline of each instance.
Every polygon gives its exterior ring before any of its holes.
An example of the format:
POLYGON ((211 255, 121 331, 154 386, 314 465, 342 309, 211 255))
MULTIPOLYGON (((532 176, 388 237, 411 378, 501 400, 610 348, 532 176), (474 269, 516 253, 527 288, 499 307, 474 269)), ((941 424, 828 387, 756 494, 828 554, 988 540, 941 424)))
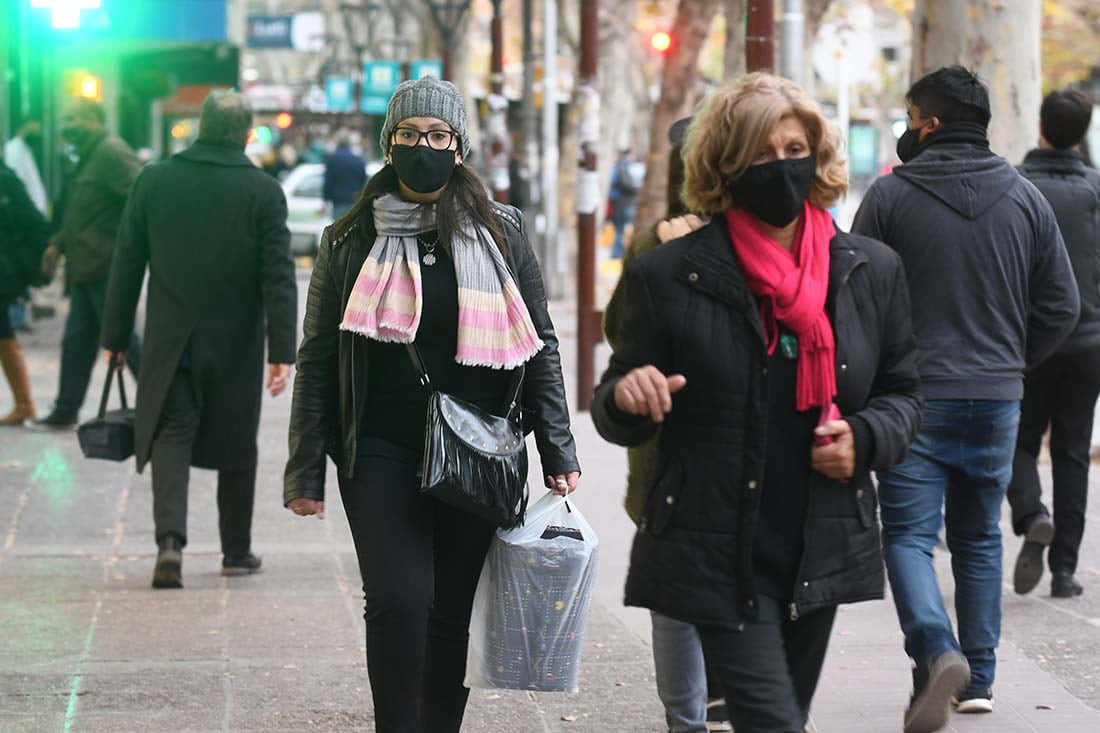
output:
POLYGON ((645 231, 664 216, 669 178, 669 128, 691 114, 698 80, 698 55, 711 29, 718 0, 680 0, 672 25, 672 48, 661 72, 661 96, 653 110, 653 125, 646 157, 646 180, 638 195, 635 231, 645 231))

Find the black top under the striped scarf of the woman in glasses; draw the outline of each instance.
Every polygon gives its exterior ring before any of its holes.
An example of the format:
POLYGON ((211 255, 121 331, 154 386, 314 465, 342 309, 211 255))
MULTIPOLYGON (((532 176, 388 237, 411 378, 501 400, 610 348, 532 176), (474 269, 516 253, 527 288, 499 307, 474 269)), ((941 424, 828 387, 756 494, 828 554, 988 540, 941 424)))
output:
MULTIPOLYGON (((459 284, 454 261, 437 245, 433 265, 425 263, 435 231, 421 234, 420 277, 424 308, 416 343, 428 376, 437 390, 471 402, 496 415, 504 414, 512 371, 487 366, 464 366, 454 361, 459 348, 459 284)), ((367 341, 366 411, 363 434, 415 450, 424 449, 428 390, 420 384, 404 343, 367 341)))

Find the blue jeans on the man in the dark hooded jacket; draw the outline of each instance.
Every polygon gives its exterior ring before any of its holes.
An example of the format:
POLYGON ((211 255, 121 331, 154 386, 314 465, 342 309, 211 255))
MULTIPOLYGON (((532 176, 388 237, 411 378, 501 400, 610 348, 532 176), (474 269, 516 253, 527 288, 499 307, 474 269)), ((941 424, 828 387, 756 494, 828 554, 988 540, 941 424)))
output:
POLYGON ((1001 636, 1001 504, 1012 479, 1020 403, 930 400, 909 456, 879 474, 882 544, 905 652, 919 665, 950 650, 971 691, 992 688, 1001 636), (932 550, 946 521, 958 641, 932 550))

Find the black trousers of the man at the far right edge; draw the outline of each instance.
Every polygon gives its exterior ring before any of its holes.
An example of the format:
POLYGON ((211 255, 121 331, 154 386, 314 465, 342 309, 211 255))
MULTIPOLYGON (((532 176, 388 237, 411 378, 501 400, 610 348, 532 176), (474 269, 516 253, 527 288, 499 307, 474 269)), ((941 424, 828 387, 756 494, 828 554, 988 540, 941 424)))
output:
POLYGON ((1020 437, 1012 462, 1009 504, 1018 535, 1038 515, 1043 504, 1036 460, 1043 434, 1050 428, 1054 490, 1054 541, 1047 561, 1054 572, 1075 572, 1085 535, 1089 496, 1089 450, 1092 415, 1100 396, 1100 349, 1050 357, 1024 380, 1020 437))

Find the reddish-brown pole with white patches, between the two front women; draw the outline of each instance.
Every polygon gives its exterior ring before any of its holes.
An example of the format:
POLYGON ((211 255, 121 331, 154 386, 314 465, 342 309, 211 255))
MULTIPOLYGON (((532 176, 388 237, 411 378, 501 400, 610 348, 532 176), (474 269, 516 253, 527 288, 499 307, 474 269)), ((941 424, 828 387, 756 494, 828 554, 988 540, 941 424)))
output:
POLYGON ((592 406, 595 387, 596 344, 601 341, 601 314, 596 310, 596 210, 600 208, 598 0, 581 0, 580 175, 576 193, 576 407, 592 406))

